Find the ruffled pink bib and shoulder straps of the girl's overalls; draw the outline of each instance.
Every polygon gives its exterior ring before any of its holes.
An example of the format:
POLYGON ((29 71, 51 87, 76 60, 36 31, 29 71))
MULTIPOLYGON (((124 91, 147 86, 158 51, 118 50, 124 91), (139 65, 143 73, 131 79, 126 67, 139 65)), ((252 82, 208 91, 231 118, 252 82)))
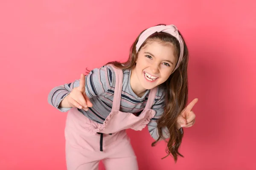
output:
POLYGON ((120 108, 120 101, 121 101, 121 91, 122 91, 122 76, 123 73, 121 70, 116 69, 112 66, 116 73, 116 87, 113 99, 113 105, 111 113, 105 119, 103 124, 92 123, 93 125, 93 132, 100 132, 100 133, 116 133, 120 130, 131 128, 133 130, 142 130, 150 121, 151 118, 154 117, 155 111, 151 109, 156 93, 157 87, 153 88, 150 91, 148 96, 148 102, 139 116, 135 116, 132 113, 125 113, 119 111, 120 108), (110 126, 107 126, 107 125, 110 126))

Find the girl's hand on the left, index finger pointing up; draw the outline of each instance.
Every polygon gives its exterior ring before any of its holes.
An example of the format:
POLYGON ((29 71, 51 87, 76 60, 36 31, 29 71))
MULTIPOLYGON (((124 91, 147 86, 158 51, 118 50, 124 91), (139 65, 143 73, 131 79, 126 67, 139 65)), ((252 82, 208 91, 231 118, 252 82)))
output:
POLYGON ((69 95, 67 95, 67 102, 73 108, 84 109, 88 111, 88 107, 92 107, 93 104, 85 94, 85 76, 81 74, 79 87, 73 88, 69 95))

